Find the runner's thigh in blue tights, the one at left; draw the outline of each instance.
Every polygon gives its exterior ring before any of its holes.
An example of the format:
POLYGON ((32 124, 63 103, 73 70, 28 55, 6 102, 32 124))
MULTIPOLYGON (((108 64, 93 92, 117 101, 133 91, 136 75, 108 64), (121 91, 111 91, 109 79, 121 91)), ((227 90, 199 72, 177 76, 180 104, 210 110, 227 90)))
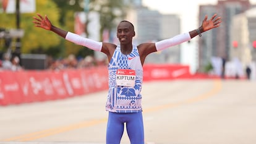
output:
POLYGON ((117 113, 109 112, 106 130, 106 143, 119 144, 124 133, 124 123, 119 121, 117 113))

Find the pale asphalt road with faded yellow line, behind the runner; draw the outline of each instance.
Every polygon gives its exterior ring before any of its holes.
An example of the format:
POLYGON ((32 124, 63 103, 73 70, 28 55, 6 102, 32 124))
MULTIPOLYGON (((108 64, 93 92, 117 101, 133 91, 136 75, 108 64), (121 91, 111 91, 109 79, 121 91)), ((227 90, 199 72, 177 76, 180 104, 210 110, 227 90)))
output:
MULTIPOLYGON (((103 144, 106 95, 0 107, 0 143, 103 144)), ((256 82, 147 82, 142 95, 147 144, 256 143, 256 82)))

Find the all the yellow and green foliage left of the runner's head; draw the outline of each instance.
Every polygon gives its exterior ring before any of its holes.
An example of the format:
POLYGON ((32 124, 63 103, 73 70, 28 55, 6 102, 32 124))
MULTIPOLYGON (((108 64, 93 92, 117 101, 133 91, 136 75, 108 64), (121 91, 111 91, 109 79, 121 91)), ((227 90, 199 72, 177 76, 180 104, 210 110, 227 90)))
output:
MULTIPOLYGON (((83 11, 83 0, 72 0, 74 2, 72 4, 70 2, 71 0, 37 0, 35 13, 20 14, 20 28, 25 32, 21 38, 22 53, 45 53, 56 58, 66 57, 69 54, 82 57, 93 54, 91 49, 70 43, 53 32, 34 27, 33 16, 39 13, 43 16, 47 15, 56 27, 74 32, 74 14, 83 11)), ((120 0, 90 0, 90 11, 97 11, 101 15, 100 35, 104 29, 111 30, 116 27, 117 22, 124 18, 128 3, 120 0)), ((0 28, 17 27, 15 14, 0 13, 0 20, 0 28)), ((0 51, 3 49, 2 45, 0 40, 0 51)))

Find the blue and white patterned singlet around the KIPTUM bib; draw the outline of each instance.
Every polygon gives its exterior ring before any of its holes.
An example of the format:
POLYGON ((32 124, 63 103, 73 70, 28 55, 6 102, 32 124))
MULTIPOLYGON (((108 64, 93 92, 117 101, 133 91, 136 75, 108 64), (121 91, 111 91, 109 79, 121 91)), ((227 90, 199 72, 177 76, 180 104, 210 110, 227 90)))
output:
POLYGON ((122 54, 121 47, 117 46, 113 57, 108 66, 109 73, 109 91, 108 101, 106 103, 106 111, 111 112, 139 112, 142 111, 142 90, 143 68, 140 62, 140 56, 137 46, 132 46, 130 54, 122 54), (118 86, 117 85, 117 70, 135 70, 135 85, 118 86))

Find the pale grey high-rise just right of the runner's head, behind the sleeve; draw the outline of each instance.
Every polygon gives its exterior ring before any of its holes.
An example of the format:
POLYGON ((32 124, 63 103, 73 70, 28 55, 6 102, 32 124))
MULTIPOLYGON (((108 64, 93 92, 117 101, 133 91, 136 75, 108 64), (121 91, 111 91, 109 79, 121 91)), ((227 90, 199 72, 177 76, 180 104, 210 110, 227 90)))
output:
MULTIPOLYGON (((134 23, 134 44, 164 40, 181 32, 181 20, 178 15, 163 15, 140 5, 128 12, 127 19, 134 23)), ((145 62, 179 63, 180 51, 179 46, 173 46, 173 48, 150 54, 145 62)))

